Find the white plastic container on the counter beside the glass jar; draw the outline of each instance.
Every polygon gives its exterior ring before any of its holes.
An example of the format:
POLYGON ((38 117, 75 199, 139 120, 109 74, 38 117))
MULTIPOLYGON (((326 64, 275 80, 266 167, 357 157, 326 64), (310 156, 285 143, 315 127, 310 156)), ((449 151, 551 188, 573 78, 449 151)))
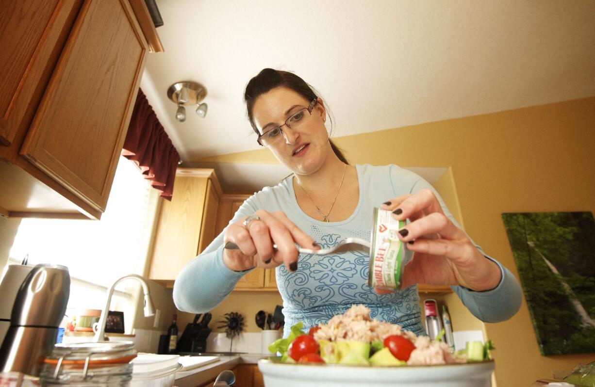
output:
POLYGON ((133 365, 131 387, 172 387, 181 369, 179 355, 139 353, 133 365))

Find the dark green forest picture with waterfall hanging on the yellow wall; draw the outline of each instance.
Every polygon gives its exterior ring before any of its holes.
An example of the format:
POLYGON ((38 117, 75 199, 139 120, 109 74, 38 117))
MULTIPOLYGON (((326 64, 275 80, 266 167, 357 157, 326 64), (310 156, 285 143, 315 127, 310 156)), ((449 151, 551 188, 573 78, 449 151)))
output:
POLYGON ((591 212, 503 213, 542 355, 595 348, 595 221, 591 212))

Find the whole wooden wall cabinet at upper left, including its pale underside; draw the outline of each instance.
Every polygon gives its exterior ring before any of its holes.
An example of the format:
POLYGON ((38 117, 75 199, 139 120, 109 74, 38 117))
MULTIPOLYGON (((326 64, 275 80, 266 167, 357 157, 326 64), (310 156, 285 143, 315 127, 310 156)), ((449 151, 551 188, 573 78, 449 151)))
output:
POLYGON ((101 217, 146 54, 161 47, 148 20, 137 0, 3 7, 1 215, 101 217))

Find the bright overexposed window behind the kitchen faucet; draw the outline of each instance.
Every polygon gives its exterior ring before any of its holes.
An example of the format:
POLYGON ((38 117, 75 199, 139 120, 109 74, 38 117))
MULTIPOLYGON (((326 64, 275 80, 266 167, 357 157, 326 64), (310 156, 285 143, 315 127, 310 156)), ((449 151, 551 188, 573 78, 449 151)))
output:
MULTIPOLYGON (((68 311, 103 309, 106 290, 116 279, 145 272, 158 196, 137 166, 121 157, 100 221, 23 219, 9 262, 20 263, 28 256, 29 265, 67 266, 71 276, 68 311)), ((134 281, 118 285, 111 310, 124 310, 133 318, 137 304, 142 303, 134 291, 138 288, 134 281)), ((125 322, 130 332, 133 321, 125 322)))

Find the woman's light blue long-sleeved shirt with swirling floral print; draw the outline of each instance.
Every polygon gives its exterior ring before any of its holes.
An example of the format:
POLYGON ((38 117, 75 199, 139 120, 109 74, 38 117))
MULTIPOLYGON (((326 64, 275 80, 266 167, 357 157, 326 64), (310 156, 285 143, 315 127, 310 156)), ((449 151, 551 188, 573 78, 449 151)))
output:
MULTIPOLYGON (((445 215, 459 226, 436 190, 414 172, 396 165, 356 165, 356 171, 359 202, 352 215, 344 221, 326 223, 306 215, 297 204, 292 178, 287 178, 247 199, 230 224, 258 209, 283 211, 302 231, 326 248, 347 237, 370 240, 374 207, 380 207, 393 197, 429 188, 439 199, 445 215)), ((224 265, 224 232, 179 273, 173 291, 178 309, 192 313, 208 312, 227 297, 245 274, 234 272, 224 265)), ((481 251, 480 247, 477 248, 481 251)), ((411 256, 411 251, 406 251, 411 256)), ((491 257, 486 256, 486 259, 496 262, 502 272, 496 288, 483 292, 460 286, 451 288, 475 317, 484 322, 499 322, 518 311, 521 287, 508 269, 491 257)), ((294 273, 290 273, 284 265, 275 269, 277 287, 283 298, 284 336, 299 321, 305 328, 325 323, 335 314, 345 313, 352 304, 365 304, 371 310, 371 317, 376 319, 398 323, 417 334, 424 332, 417 285, 392 294, 376 294, 368 287, 367 254, 358 251, 329 256, 300 254, 298 262, 294 273)))

